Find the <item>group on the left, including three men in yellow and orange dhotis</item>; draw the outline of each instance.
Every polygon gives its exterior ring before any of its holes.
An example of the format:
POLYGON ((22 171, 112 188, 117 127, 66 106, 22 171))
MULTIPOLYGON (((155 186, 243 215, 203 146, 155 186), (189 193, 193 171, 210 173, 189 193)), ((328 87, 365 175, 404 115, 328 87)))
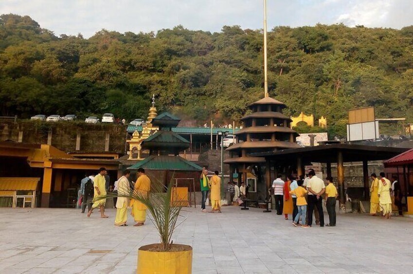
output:
MULTIPOLYGON (((88 206, 88 217, 93 213, 93 210, 99 208, 101 218, 108 218, 105 215, 105 206, 107 200, 107 170, 104 167, 99 169, 96 176, 86 176, 81 180, 80 192, 82 193, 82 213, 85 213, 86 206, 88 206)), ((115 202, 116 217, 115 226, 127 226, 127 208, 131 208, 131 215, 134 217, 136 224, 134 226, 143 226, 146 220, 146 206, 136 199, 129 199, 132 191, 133 194, 140 197, 147 197, 150 191, 151 181, 145 175, 143 168, 137 170, 137 180, 132 184, 129 182, 130 171, 125 170, 123 176, 120 177, 114 186, 114 191, 118 194, 115 202)))

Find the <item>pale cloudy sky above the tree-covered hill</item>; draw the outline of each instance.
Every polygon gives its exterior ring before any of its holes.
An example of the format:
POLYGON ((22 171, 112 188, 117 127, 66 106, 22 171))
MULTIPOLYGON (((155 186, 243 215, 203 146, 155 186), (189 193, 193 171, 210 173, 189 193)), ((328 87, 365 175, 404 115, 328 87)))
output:
MULTIPOLYGON (((413 25, 413 0, 267 0, 268 29, 344 23, 401 29, 413 25)), ((28 15, 56 35, 101 29, 151 32, 183 25, 263 28, 263 0, 0 0, 0 14, 28 15)))

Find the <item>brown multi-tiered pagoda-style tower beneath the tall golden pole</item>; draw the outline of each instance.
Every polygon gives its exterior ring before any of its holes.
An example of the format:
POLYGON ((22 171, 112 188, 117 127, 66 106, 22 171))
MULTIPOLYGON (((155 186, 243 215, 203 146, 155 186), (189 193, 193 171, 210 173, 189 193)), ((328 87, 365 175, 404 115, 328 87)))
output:
POLYGON ((247 176, 254 175, 257 195, 267 195, 271 174, 275 176, 277 170, 276 165, 269 166, 263 157, 254 157, 253 153, 300 147, 295 143, 298 133, 290 128, 291 119, 282 113, 286 107, 271 97, 249 105, 251 113, 241 118, 244 127, 235 133, 236 144, 226 149, 230 158, 224 163, 230 165, 230 180, 237 177, 238 182, 247 183, 247 176))

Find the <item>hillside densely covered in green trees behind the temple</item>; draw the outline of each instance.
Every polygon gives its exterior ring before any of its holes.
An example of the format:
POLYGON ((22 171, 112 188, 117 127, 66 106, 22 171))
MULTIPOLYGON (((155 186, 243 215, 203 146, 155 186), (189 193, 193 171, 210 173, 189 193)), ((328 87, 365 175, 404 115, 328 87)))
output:
MULTIPOLYGON (((190 27, 190 26, 188 26, 190 27)), ((276 27, 268 34, 269 94, 285 113, 327 117, 345 134, 349 109, 413 119, 413 26, 276 27)), ((159 111, 198 124, 239 119, 263 97, 263 35, 224 26, 219 33, 182 26, 157 33, 102 30, 56 36, 29 16, 0 16, 1 115, 159 111)))

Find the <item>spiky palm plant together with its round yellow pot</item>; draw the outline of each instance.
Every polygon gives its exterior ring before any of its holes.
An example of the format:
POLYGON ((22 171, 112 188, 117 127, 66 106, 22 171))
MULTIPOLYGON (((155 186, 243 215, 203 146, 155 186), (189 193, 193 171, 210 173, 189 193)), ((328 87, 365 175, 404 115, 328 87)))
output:
POLYGON ((174 203, 172 199, 173 181, 171 179, 168 186, 159 180, 151 181, 148 195, 132 190, 124 193, 118 191, 117 194, 118 197, 127 197, 144 204, 151 213, 150 219, 160 236, 159 243, 144 245, 138 249, 137 273, 191 274, 192 247, 172 241, 182 209, 182 203, 174 203))

